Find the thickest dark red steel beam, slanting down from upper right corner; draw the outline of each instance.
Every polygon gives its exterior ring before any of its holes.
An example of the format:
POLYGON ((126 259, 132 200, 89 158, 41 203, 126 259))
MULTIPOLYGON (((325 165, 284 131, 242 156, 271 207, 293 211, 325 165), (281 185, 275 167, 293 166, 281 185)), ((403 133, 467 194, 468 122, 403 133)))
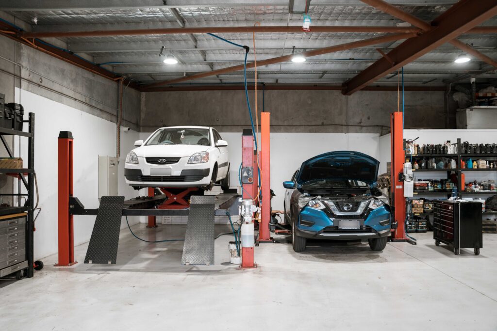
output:
POLYGON ((395 63, 394 66, 387 59, 381 58, 344 83, 342 93, 350 95, 360 90, 497 14, 497 0, 479 1, 478 5, 472 0, 460 2, 449 17, 438 22, 436 28, 417 38, 408 39, 390 51, 388 56, 395 63))

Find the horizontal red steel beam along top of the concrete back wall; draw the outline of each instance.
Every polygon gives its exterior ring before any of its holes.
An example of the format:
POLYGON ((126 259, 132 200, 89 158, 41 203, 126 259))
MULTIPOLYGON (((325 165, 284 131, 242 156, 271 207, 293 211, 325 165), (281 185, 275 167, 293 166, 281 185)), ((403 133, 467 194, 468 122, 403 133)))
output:
MULTIPOLYGON (((252 84, 248 85, 249 90, 253 90, 252 84)), ((259 87, 260 88, 260 87, 259 87)), ((143 92, 178 92, 178 91, 241 91, 244 85, 185 85, 185 86, 163 86, 155 87, 143 92)), ((326 90, 341 91, 341 85, 286 85, 271 84, 264 85, 265 90, 326 90)), ((406 91, 445 91, 445 86, 405 86, 406 91)), ((362 91, 397 91, 397 86, 366 86, 362 91)))

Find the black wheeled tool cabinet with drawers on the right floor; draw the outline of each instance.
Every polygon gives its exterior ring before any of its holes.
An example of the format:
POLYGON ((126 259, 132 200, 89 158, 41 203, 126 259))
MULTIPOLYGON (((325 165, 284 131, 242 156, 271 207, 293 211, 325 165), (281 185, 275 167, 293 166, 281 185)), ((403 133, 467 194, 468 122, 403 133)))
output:
POLYGON ((454 254, 461 248, 473 248, 475 255, 483 247, 482 204, 480 202, 435 200, 433 202, 433 239, 452 245, 454 254))

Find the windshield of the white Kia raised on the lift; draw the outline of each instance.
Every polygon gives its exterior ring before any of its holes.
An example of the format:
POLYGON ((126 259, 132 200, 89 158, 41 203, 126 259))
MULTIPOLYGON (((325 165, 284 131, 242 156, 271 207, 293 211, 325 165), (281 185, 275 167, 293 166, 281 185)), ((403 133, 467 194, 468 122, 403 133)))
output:
POLYGON ((155 132, 147 145, 205 145, 209 146, 209 129, 168 128, 155 132))

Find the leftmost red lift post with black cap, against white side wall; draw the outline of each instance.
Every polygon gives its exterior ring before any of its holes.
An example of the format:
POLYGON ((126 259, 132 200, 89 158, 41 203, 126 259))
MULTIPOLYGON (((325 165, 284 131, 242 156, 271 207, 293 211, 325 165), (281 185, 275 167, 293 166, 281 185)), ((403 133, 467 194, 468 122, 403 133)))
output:
POLYGON ((69 213, 69 197, 73 196, 73 133, 61 131, 58 139, 58 222, 59 263, 69 266, 74 261, 74 220, 69 213))

